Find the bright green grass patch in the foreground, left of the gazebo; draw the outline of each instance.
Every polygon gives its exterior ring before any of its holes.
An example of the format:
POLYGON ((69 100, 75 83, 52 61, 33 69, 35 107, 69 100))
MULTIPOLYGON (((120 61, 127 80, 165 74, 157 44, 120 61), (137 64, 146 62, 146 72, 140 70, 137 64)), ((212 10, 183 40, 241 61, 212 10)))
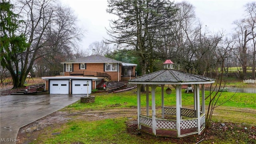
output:
POLYGON ((115 141, 120 143, 119 141, 122 140, 122 138, 125 138, 126 140, 130 139, 129 135, 125 134, 125 120, 125 118, 120 118, 95 122, 81 120, 71 121, 60 129, 54 130, 55 132, 61 131, 61 134, 54 135, 47 141, 40 141, 39 139, 38 142, 44 142, 45 144, 65 144, 80 140, 81 142, 90 142, 94 144, 109 144, 116 139, 115 141), (114 136, 116 133, 119 133, 118 138, 115 138, 116 136, 114 136))

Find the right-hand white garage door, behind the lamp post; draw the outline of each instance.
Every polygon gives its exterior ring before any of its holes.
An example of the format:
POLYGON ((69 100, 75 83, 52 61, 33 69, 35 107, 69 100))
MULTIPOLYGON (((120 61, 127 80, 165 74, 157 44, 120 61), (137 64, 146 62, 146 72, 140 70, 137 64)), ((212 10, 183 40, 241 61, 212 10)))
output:
POLYGON ((92 80, 72 80, 72 94, 87 94, 87 81, 88 94, 92 92, 92 80))

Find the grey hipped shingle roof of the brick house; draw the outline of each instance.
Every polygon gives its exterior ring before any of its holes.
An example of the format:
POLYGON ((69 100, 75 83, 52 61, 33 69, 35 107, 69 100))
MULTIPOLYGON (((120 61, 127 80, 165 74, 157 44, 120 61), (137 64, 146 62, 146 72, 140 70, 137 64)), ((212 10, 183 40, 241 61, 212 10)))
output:
POLYGON ((68 61, 62 62, 62 64, 64 63, 122 63, 122 62, 95 54, 95 55, 86 56, 83 58, 77 58, 74 60, 68 60, 68 61))

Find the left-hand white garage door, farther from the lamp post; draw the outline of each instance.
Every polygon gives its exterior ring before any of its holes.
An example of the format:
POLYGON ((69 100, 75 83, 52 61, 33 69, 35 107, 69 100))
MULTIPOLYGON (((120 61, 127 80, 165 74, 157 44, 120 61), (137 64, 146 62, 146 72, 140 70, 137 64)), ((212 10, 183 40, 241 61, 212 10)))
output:
POLYGON ((50 80, 50 94, 68 94, 68 80, 50 80))

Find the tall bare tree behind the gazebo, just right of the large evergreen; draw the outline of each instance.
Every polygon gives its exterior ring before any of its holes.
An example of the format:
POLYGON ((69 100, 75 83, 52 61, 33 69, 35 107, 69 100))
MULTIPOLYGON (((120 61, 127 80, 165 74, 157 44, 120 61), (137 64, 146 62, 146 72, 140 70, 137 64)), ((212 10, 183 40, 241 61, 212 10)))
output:
POLYGON ((172 27, 174 38, 172 45, 168 49, 168 57, 180 65, 182 70, 190 70, 192 56, 196 50, 196 40, 200 36, 200 25, 195 15, 195 8, 188 2, 176 4, 178 11, 175 15, 175 24, 172 27))

